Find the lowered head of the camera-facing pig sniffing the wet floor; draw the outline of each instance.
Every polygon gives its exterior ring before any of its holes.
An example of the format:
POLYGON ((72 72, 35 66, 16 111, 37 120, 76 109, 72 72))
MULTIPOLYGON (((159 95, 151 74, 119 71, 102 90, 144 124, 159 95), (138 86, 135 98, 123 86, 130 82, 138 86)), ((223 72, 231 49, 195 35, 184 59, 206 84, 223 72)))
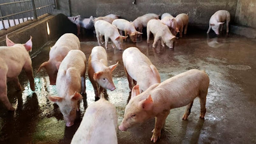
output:
POLYGON ((74 95, 67 97, 55 97, 49 96, 48 99, 60 107, 60 111, 63 114, 63 119, 66 126, 73 126, 77 116, 77 110, 79 110, 78 101, 83 97, 81 94, 75 92, 74 95))

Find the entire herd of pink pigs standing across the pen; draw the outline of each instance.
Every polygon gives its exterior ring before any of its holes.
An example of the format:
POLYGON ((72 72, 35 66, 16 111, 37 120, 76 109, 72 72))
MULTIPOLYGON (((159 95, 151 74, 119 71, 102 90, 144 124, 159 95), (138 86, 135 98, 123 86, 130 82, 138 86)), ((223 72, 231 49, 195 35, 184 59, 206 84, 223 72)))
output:
MULTIPOLYGON (((77 24, 77 35, 80 27, 87 29, 94 27, 99 44, 93 47, 88 60, 88 76, 94 88, 95 100, 99 100, 87 107, 71 143, 117 143, 117 112, 113 104, 104 98, 102 92, 103 89, 111 91, 116 89, 112 80, 112 71, 118 62, 108 66, 105 48, 107 49, 109 38, 113 42, 112 47, 120 50, 123 39, 128 36, 133 42, 137 39, 141 40, 143 27, 147 27, 148 43, 150 32, 154 34, 153 48, 158 40, 161 40, 162 46, 166 44, 169 48, 173 48, 177 33, 179 32, 179 36, 182 37, 183 28, 185 28, 184 34, 187 32, 188 15, 182 13, 174 18, 169 13, 165 13, 161 20, 158 17, 157 14, 145 14, 133 22, 118 19, 118 16, 113 14, 99 18, 90 17, 89 20, 80 16, 69 17, 77 24), (125 36, 121 35, 121 31, 125 32, 125 36), (105 37, 105 48, 101 47, 102 36, 105 37)), ((228 32, 229 12, 217 11, 210 18, 208 32, 212 28, 216 34, 219 34, 219 26, 223 27, 224 21, 227 23, 228 32)), ((24 69, 31 90, 35 90, 32 61, 28 53, 32 50, 32 37, 25 44, 15 44, 6 35, 6 45, 0 47, 0 99, 9 111, 14 111, 15 108, 7 97, 7 82, 13 81, 15 89, 22 90, 18 75, 24 69)), ((151 141, 156 142, 160 138, 161 129, 170 109, 187 105, 182 117, 187 119, 196 97, 200 99, 200 118, 204 118, 209 86, 209 77, 205 71, 192 69, 161 83, 157 68, 138 48, 126 48, 122 60, 131 98, 119 126, 121 131, 155 118, 151 141)), ((48 99, 58 104, 66 126, 72 126, 76 111, 79 111, 79 102, 83 98, 81 94, 86 91, 86 57, 80 50, 78 37, 72 33, 63 34, 51 48, 49 60, 43 62, 37 72, 43 68, 48 73, 50 84, 56 84, 58 92, 58 96, 48 96, 48 99)))

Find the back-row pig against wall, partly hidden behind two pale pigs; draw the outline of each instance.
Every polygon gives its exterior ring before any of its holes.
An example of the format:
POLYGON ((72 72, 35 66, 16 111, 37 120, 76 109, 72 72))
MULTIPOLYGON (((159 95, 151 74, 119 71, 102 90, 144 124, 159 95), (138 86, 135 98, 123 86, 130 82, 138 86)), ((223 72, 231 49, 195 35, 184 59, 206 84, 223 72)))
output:
MULTIPOLYGON (((136 18, 132 23, 138 32, 142 32, 143 27, 147 26, 147 23, 149 22, 150 19, 159 19, 159 16, 160 15, 154 13, 144 14, 143 16, 136 18)), ((140 40, 142 40, 141 34, 139 34, 139 37, 140 40)))

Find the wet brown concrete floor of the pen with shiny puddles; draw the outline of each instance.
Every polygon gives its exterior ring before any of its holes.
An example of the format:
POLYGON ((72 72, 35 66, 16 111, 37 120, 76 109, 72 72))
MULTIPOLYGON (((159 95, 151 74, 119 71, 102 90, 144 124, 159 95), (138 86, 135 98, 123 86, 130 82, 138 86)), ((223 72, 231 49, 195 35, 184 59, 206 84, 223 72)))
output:
MULTIPOLYGON (((181 117, 185 107, 171 110, 157 143, 256 143, 256 40, 237 35, 215 37, 213 33, 207 39, 206 32, 189 33, 176 40, 175 48, 158 47, 152 49, 143 40, 139 43, 124 43, 124 47, 138 47, 157 67, 164 81, 192 68, 204 69, 210 77, 207 95, 205 119, 199 118, 199 100, 194 101, 188 120, 181 117)), ((95 38, 81 38, 81 50, 87 60, 91 49, 97 46, 95 38)), ((50 41, 33 57, 34 72, 40 64, 48 60, 50 41)), ((109 45, 110 46, 110 45, 109 45)), ((111 47, 111 46, 110 46, 111 47)), ((105 96, 113 103, 121 123, 125 106, 130 95, 128 80, 123 70, 122 51, 107 50, 108 64, 119 61, 113 72, 114 91, 105 91, 105 96)), ((86 74, 87 75, 87 74, 86 74)), ((29 88, 24 73, 20 82, 24 91, 17 92, 10 83, 8 97, 16 108, 7 112, 0 104, 0 142, 1 143, 70 143, 77 130, 87 105, 94 102, 94 92, 88 77, 86 95, 81 101, 75 125, 66 127, 62 114, 56 104, 47 99, 48 95, 57 95, 55 86, 49 85, 45 71, 35 73, 36 90, 29 88)), ((129 129, 118 130, 118 142, 124 144, 148 144, 154 119, 129 129)))

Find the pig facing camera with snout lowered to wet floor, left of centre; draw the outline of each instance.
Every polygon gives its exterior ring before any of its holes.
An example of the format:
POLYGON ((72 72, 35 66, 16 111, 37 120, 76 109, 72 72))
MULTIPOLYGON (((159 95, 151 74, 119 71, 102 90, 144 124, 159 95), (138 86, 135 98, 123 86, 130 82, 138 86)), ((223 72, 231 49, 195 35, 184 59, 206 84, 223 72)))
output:
POLYGON ((80 50, 70 50, 61 62, 56 90, 59 96, 48 96, 48 99, 60 107, 66 126, 74 125, 79 101, 85 93, 86 57, 80 50), (82 88, 82 89, 81 89, 82 88))

